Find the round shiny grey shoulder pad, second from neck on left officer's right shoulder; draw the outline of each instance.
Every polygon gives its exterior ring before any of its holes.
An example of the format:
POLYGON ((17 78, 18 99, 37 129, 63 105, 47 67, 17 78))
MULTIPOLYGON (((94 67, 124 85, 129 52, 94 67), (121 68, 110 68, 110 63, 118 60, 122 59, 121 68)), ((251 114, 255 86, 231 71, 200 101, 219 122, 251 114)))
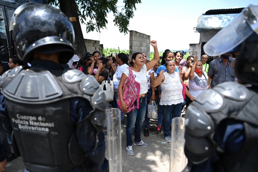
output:
POLYGON ((86 78, 81 82, 80 89, 87 95, 93 95, 99 88, 98 81, 92 75, 87 75, 86 78))

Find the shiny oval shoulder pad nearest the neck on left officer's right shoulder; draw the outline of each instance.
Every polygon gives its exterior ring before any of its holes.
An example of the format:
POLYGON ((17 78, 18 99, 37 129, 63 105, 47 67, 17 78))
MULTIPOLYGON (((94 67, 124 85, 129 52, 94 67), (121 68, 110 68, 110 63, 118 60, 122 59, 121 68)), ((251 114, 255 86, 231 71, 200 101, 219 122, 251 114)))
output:
POLYGON ((79 81, 83 80, 85 77, 86 77, 86 75, 83 72, 78 71, 76 69, 65 70, 64 73, 62 74, 62 79, 66 83, 79 82, 79 81))

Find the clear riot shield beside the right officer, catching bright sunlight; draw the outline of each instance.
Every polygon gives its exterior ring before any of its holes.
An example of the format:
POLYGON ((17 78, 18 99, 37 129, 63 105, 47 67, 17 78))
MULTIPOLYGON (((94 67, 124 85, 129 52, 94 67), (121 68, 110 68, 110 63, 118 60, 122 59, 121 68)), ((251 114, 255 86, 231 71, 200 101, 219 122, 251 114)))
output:
POLYGON ((170 172, 181 172, 187 165, 187 158, 184 154, 184 126, 184 118, 173 118, 171 128, 170 172))

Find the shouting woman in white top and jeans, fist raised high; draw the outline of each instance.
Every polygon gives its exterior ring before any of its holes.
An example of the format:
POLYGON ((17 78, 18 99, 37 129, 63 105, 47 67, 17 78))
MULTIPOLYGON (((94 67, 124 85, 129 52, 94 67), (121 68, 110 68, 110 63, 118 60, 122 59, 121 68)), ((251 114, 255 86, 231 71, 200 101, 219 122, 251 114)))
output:
MULTIPOLYGON (((145 112, 146 112, 146 106, 147 106, 147 77, 146 73, 149 71, 159 60, 159 53, 157 48, 157 42, 156 41, 150 41, 150 44, 154 48, 154 59, 144 63, 144 57, 142 53, 137 52, 134 53, 132 56, 131 61, 131 69, 133 72, 133 75, 135 75, 135 81, 140 84, 140 101, 139 101, 139 109, 135 108, 135 110, 131 110, 127 113, 127 125, 126 125, 126 151, 128 155, 134 155, 133 151, 133 144, 139 145, 139 146, 148 146, 147 143, 144 143, 141 140, 141 129, 142 129, 142 123, 144 120, 145 112), (135 125, 135 138, 134 143, 132 141, 132 134, 133 134, 133 127, 135 125)), ((129 69, 125 69, 125 71, 122 74, 119 86, 118 86, 118 93, 120 97, 121 102, 121 108, 125 111, 127 111, 126 103, 123 100, 123 87, 124 82, 126 78, 129 76, 129 69)), ((136 103, 136 101, 135 101, 136 103)))

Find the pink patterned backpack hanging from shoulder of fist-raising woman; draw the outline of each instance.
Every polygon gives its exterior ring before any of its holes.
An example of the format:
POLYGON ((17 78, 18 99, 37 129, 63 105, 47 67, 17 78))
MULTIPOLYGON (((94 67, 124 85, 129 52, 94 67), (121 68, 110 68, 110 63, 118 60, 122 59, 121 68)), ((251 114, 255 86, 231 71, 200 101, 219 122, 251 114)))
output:
POLYGON ((140 84, 134 80, 135 75, 133 75, 131 67, 127 69, 129 70, 129 76, 126 78, 123 87, 123 100, 126 103, 127 111, 121 108, 119 95, 117 97, 117 104, 122 112, 128 113, 135 108, 139 109, 140 84), (134 105, 135 100, 137 100, 137 106, 134 105))

